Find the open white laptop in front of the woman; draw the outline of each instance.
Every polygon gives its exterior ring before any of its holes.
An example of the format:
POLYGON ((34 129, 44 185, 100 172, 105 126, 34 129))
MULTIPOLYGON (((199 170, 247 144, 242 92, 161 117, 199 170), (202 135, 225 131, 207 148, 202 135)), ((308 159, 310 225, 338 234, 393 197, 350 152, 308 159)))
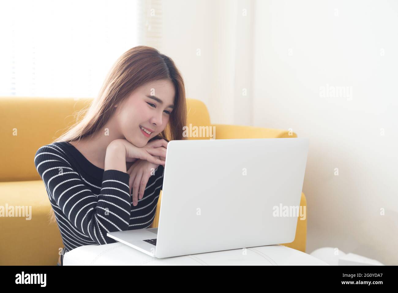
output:
POLYGON ((156 258, 293 242, 307 154, 308 138, 172 140, 158 228, 107 236, 156 258))

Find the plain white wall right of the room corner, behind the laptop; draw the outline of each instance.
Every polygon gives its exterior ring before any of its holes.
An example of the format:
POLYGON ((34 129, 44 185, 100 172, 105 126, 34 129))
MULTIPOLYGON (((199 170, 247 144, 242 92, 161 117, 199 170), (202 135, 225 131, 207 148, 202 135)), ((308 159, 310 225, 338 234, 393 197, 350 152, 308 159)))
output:
POLYGON ((307 253, 398 265, 397 14, 393 1, 256 1, 254 124, 310 140, 307 253), (327 85, 352 96, 322 97, 327 85))

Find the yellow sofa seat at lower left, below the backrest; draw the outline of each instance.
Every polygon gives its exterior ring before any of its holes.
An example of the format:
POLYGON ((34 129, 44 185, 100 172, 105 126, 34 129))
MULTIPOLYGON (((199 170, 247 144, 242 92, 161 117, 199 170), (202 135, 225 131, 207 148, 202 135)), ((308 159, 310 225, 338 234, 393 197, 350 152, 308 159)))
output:
POLYGON ((0 202, 14 209, 27 206, 31 217, 0 218, 0 265, 57 264, 62 238, 57 223, 49 224, 51 205, 43 181, 0 182, 0 202))

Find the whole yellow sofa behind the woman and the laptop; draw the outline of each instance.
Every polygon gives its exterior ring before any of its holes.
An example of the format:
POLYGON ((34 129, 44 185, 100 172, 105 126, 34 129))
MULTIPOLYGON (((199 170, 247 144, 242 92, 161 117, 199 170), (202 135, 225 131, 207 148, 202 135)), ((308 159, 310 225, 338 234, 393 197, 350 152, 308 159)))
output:
MULTIPOLYGON (((34 165, 37 149, 59 137, 74 121, 73 113, 90 98, 0 97, 0 206, 31 207, 31 218, 0 217, 0 265, 55 265, 63 247, 56 223, 49 224, 51 205, 34 165)), ((287 130, 211 124, 203 102, 187 99, 187 125, 216 126, 216 139, 293 138, 287 130)), ((208 139, 208 138, 189 138, 208 139)), ((162 192, 152 228, 158 226, 162 192)), ((301 206, 306 206, 304 193, 301 206)), ((295 240, 283 244, 305 252, 307 220, 297 220, 295 240)))

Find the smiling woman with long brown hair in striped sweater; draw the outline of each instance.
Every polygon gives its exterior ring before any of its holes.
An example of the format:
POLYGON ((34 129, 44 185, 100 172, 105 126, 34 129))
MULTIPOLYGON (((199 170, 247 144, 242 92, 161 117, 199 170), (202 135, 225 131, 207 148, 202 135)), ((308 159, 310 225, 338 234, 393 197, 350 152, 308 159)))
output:
POLYGON ((78 122, 35 155, 64 248, 116 242, 107 232, 148 228, 163 185, 169 140, 183 140, 185 88, 169 57, 125 52, 78 122))

